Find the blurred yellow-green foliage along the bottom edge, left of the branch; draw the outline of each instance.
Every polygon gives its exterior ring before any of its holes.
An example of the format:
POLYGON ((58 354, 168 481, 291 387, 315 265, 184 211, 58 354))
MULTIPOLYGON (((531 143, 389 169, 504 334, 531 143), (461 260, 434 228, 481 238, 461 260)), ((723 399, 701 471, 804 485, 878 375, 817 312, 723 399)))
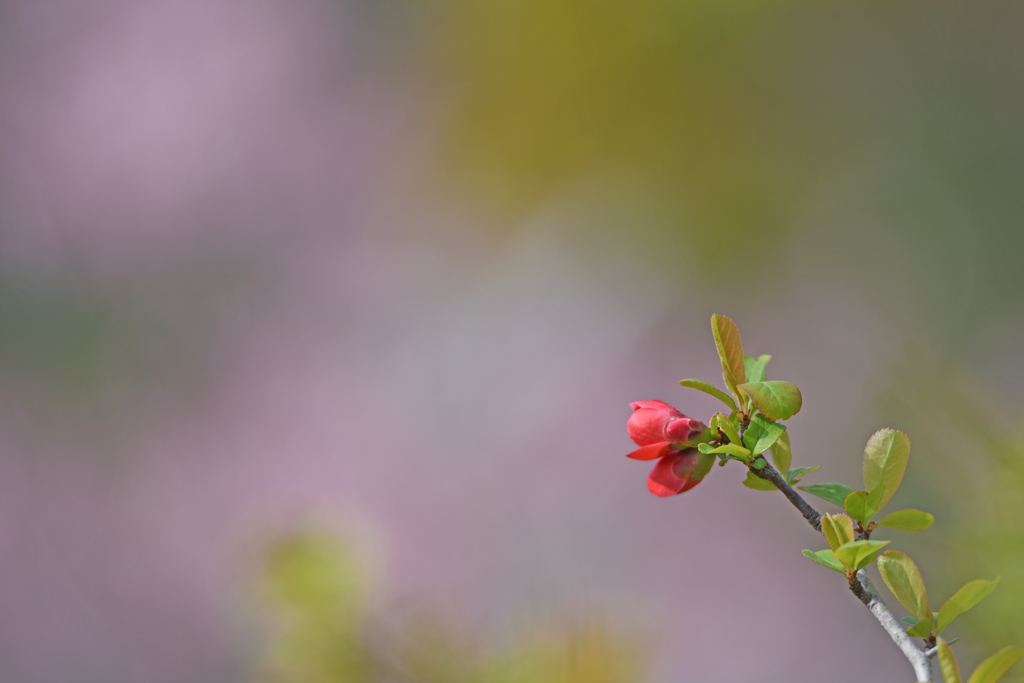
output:
POLYGON ((603 618, 554 620, 507 649, 457 635, 424 610, 376 614, 367 577, 332 536, 302 532, 266 550, 261 595, 272 623, 258 683, 637 683, 647 658, 603 618))

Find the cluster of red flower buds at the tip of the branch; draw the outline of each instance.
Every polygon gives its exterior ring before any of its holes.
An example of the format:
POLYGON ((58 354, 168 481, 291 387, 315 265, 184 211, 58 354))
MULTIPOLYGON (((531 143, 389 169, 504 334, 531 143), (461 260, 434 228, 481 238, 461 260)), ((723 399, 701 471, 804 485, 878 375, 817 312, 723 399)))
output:
POLYGON ((689 490, 703 479, 715 462, 692 447, 711 438, 711 430, 663 400, 630 403, 633 415, 626 423, 630 438, 640 447, 634 460, 658 460, 647 478, 650 493, 660 498, 689 490))

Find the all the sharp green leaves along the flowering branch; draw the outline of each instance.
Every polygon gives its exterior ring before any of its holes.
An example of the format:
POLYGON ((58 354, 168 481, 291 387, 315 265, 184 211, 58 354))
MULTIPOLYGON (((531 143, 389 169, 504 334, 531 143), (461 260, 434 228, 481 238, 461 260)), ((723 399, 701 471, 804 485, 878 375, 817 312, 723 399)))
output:
MULTIPOLYGON (((701 380, 680 382, 684 387, 715 396, 729 409, 728 413, 716 413, 712 417, 710 426, 714 436, 709 442, 700 443, 699 451, 717 455, 720 465, 730 460, 744 464, 749 471, 743 484, 749 488, 775 490, 775 483, 758 475, 767 466, 763 454, 768 452, 782 479, 791 486, 797 484, 806 474, 818 469, 792 467, 790 435, 785 425, 780 424, 800 412, 803 405, 800 390, 790 382, 767 379, 766 367, 771 356, 745 354, 739 330, 728 317, 713 315, 712 332, 728 393, 701 380)), ((871 532, 878 527, 916 532, 935 521, 931 513, 914 509, 897 510, 874 521, 876 515, 898 490, 909 457, 910 439, 906 434, 896 429, 880 429, 864 447, 863 488, 854 489, 842 483, 798 486, 843 509, 843 513, 826 514, 820 519, 828 548, 805 550, 803 554, 845 574, 851 586, 859 581, 857 571, 877 561, 886 586, 910 613, 903 620, 908 627, 907 635, 924 638, 927 646, 937 647, 946 683, 961 683, 956 659, 949 644, 939 636, 956 616, 988 596, 999 580, 969 582, 938 611, 932 611, 924 579, 914 561, 897 550, 887 550, 880 555, 890 541, 871 540, 871 532)), ((994 683, 1022 657, 1024 648, 1004 648, 985 659, 968 683, 994 683)))

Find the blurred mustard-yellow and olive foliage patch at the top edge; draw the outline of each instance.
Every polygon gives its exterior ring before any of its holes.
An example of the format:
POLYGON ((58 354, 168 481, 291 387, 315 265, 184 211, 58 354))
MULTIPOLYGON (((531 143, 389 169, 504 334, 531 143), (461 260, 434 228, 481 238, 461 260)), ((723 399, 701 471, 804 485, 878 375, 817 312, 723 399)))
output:
POLYGON ((462 179, 516 207, 611 167, 722 239, 756 225, 771 241, 806 173, 761 82, 792 4, 446 3, 462 179))

